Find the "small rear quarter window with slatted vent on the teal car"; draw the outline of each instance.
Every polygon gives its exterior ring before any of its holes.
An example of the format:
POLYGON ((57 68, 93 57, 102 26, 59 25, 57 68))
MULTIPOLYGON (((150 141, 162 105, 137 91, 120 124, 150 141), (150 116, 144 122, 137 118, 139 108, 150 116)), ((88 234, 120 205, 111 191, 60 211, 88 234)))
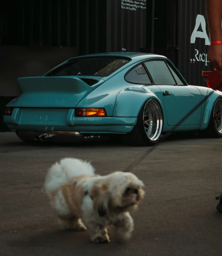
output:
POLYGON ((125 77, 127 82, 133 84, 152 84, 142 64, 133 68, 125 77))

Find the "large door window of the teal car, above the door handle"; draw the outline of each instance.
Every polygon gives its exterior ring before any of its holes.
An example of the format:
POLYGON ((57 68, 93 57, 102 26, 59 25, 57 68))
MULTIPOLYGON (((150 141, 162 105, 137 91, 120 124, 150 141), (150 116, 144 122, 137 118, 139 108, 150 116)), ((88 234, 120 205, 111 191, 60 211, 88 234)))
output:
POLYGON ((165 61, 152 60, 145 62, 155 84, 176 84, 165 61))

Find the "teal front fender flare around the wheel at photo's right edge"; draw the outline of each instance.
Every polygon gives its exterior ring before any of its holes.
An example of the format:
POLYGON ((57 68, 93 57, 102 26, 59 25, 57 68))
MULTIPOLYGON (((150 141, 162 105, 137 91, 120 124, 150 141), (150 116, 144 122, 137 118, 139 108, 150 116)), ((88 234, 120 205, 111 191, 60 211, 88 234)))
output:
MULTIPOLYGON (((213 89, 209 89, 207 92, 207 95, 212 93, 213 89)), ((218 99, 222 99, 222 92, 215 90, 214 93, 212 93, 209 97, 207 97, 205 106, 204 106, 204 111, 203 111, 203 118, 202 122, 200 125, 200 130, 204 130, 207 128, 209 121, 210 121, 210 114, 212 112, 212 109, 214 107, 215 102, 218 99)))

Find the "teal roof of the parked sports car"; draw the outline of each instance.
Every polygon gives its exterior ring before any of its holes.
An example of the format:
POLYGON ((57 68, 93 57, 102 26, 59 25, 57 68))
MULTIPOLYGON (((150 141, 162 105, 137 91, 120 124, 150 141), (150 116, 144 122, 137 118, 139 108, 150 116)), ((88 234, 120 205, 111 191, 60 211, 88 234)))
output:
POLYGON ((167 57, 154 54, 154 53, 138 53, 138 52, 109 52, 109 53, 94 53, 94 54, 87 54, 87 55, 82 55, 82 56, 77 56, 72 59, 69 59, 67 61, 75 60, 75 59, 80 59, 80 58, 87 58, 87 57, 125 57, 125 58, 130 58, 132 60, 143 60, 143 59, 148 59, 148 58, 165 58, 167 57))

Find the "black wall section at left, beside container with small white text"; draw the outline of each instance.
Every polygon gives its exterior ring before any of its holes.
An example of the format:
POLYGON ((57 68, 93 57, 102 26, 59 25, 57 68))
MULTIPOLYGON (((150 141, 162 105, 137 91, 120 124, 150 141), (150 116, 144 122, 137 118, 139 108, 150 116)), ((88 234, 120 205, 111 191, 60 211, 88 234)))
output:
POLYGON ((105 52, 106 11, 105 0, 1 2, 0 96, 19 95, 19 77, 43 75, 76 55, 105 52))

